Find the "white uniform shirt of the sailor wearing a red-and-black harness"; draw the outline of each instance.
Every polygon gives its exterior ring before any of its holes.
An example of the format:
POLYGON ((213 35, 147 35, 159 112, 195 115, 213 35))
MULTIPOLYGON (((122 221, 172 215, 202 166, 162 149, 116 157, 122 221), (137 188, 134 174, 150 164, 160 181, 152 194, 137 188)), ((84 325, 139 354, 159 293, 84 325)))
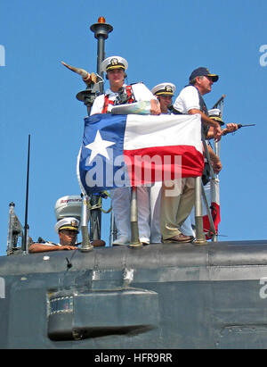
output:
MULTIPOLYGON (((123 87, 126 87, 127 85, 124 84, 123 87)), ((157 99, 155 96, 152 95, 150 92, 150 89, 147 88, 142 82, 136 83, 132 85, 132 92, 134 94, 134 99, 136 102, 139 101, 150 101, 151 99, 157 99)), ((105 96, 109 95, 110 101, 115 101, 116 97, 118 96, 118 93, 112 92, 110 88, 108 88, 105 92, 105 94, 101 96, 97 96, 93 102, 93 106, 91 109, 90 115, 93 115, 95 113, 102 113, 103 105, 105 103, 105 96)), ((108 112, 110 113, 113 108, 113 104, 108 105, 108 112)))

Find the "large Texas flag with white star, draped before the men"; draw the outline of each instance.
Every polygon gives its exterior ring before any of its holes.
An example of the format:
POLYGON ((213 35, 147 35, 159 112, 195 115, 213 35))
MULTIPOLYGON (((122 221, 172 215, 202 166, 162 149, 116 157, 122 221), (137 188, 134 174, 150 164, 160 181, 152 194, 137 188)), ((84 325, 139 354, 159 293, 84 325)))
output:
POLYGON ((94 114, 85 118, 77 177, 87 195, 202 175, 200 115, 94 114))

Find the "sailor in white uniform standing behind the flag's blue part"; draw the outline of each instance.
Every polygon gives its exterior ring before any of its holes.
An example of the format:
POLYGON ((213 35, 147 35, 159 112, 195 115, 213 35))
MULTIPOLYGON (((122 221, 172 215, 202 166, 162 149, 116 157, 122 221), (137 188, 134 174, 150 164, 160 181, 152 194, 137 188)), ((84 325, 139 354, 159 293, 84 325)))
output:
MULTIPOLYGON (((93 102, 91 115, 95 113, 110 113, 117 104, 132 104, 134 102, 150 102, 150 113, 160 114, 160 106, 156 96, 150 92, 142 82, 131 85, 125 84, 125 71, 127 61, 121 56, 109 56, 101 63, 101 71, 106 72, 109 79, 109 88, 93 102)), ((137 189, 138 192, 139 188, 137 189)), ((130 188, 114 188, 110 190, 111 203, 117 227, 117 239, 113 245, 126 245, 131 239, 130 222, 130 188)), ((142 212, 142 203, 139 202, 139 213, 142 212)), ((142 214, 139 215, 140 228, 142 229, 142 214), (141 224, 140 224, 141 223, 141 224)), ((150 242, 150 234, 139 231, 140 239, 144 243, 150 242)))

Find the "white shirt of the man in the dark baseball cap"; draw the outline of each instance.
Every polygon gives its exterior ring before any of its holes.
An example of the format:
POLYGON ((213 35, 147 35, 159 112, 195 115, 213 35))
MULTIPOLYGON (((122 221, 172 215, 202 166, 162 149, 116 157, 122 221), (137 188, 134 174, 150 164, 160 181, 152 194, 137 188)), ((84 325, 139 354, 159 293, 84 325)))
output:
POLYGON ((174 108, 180 113, 185 114, 192 109, 200 110, 197 88, 193 86, 183 88, 174 102, 174 108))

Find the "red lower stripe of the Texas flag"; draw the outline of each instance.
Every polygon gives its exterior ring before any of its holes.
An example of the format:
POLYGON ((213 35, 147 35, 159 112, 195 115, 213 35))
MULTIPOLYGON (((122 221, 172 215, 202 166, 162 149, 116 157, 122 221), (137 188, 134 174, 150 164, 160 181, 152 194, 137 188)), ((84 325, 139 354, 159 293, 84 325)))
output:
POLYGON ((182 178, 198 177, 204 168, 203 154, 194 146, 153 146, 124 150, 124 154, 132 186, 142 186, 163 178, 179 179, 181 170, 182 178))

